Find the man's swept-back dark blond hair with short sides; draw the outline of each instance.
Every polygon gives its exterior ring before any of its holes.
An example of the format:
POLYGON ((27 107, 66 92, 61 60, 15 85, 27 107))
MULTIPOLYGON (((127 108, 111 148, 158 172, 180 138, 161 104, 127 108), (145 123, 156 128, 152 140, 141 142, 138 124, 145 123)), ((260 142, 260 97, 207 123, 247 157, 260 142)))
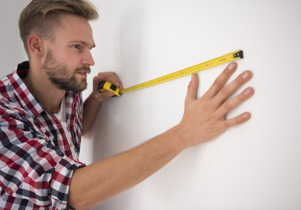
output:
POLYGON ((73 14, 88 21, 98 19, 97 9, 88 0, 32 0, 19 18, 20 37, 29 59, 29 36, 37 34, 54 41, 53 31, 61 24, 60 14, 73 14))

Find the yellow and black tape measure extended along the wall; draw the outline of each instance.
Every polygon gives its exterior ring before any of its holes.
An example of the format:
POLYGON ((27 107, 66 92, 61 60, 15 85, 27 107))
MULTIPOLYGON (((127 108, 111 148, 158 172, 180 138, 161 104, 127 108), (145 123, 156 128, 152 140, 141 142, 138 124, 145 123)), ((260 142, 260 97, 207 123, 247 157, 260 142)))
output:
POLYGON ((122 89, 122 90, 119 90, 119 88, 117 88, 115 85, 113 85, 110 82, 102 81, 99 84, 98 90, 101 93, 103 93, 105 91, 111 91, 111 92, 114 93, 113 97, 120 96, 121 93, 129 92, 129 91, 137 90, 137 89, 141 89, 141 88, 146 88, 146 87, 149 87, 149 86, 152 86, 152 85, 157 85, 157 84, 160 84, 162 82, 167 82, 169 80, 176 79, 176 78, 179 78, 179 77, 182 77, 182 76, 186 76, 188 74, 195 73, 195 72, 198 72, 198 71, 201 71, 201 70, 205 70, 205 69, 208 69, 208 68, 220 65, 220 64, 224 64, 224 63, 227 63, 229 61, 233 61, 233 60, 238 59, 238 58, 244 58, 243 51, 237 50, 235 52, 231 52, 229 54, 220 56, 218 58, 214 58, 214 59, 211 59, 209 61, 197 64, 197 65, 194 65, 194 66, 176 71, 174 73, 170 73, 170 74, 167 74, 165 76, 161 76, 161 77, 158 77, 156 79, 152 79, 152 80, 149 80, 147 82, 143 82, 143 83, 140 83, 138 85, 134 85, 132 87, 125 88, 125 89, 122 89))

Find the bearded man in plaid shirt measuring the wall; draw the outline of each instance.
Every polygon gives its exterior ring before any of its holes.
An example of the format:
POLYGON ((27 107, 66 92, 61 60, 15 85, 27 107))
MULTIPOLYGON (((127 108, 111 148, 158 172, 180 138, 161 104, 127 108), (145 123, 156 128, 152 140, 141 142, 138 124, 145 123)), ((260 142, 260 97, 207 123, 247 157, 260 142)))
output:
POLYGON ((225 119, 254 92, 246 88, 227 100, 252 77, 245 71, 224 86, 237 67, 231 63, 199 99, 192 74, 184 115, 174 128, 89 166, 80 163, 81 136, 112 96, 98 92, 99 82, 123 89, 115 73, 99 73, 82 102, 94 65, 88 21, 95 19, 98 13, 87 0, 33 0, 22 11, 20 36, 29 62, 0 82, 0 209, 92 208, 151 176, 184 149, 250 119, 250 113, 225 119))

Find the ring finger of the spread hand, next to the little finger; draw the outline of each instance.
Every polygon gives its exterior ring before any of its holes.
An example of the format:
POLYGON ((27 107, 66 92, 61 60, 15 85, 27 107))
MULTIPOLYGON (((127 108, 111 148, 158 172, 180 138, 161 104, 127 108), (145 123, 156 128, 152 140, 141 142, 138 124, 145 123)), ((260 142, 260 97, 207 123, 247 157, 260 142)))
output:
POLYGON ((246 88, 243 92, 241 92, 239 95, 237 95, 234 98, 231 98, 228 101, 225 101, 219 109, 216 111, 216 116, 218 117, 223 117, 225 116, 228 112, 233 110, 235 107, 237 107, 239 104, 243 103, 246 101, 248 98, 250 98, 254 94, 254 89, 253 88, 246 88))

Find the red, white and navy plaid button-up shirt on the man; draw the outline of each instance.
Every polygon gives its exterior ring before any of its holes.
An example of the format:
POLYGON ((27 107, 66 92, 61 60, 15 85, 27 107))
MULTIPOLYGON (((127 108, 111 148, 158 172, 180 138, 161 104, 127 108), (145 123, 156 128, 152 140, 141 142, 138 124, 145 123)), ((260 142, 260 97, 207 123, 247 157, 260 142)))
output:
POLYGON ((66 92, 63 119, 26 88, 28 70, 23 62, 0 80, 0 209, 68 209, 73 170, 84 166, 82 93, 66 92))

